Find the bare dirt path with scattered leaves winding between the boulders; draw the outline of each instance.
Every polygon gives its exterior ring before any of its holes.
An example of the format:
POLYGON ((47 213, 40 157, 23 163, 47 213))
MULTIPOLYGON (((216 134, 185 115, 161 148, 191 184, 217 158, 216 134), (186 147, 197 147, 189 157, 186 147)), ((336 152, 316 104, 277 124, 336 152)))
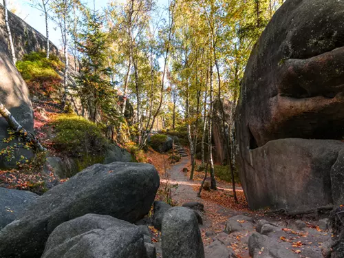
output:
MULTIPOLYGON (((196 191, 193 186, 199 185, 192 180, 186 178, 186 175, 182 172, 182 169, 189 164, 188 158, 183 158, 178 164, 171 166, 169 169, 169 184, 178 184, 178 188, 173 194, 173 201, 178 205, 182 205, 185 202, 201 202, 204 204, 204 213, 202 214, 203 225, 200 226, 202 232, 202 239, 204 241, 204 247, 206 251, 206 258, 217 258, 217 256, 208 252, 211 248, 207 249, 207 246, 211 245, 213 241, 221 241, 228 250, 234 250, 237 257, 248 258, 248 238, 255 230, 255 224, 249 228, 245 228, 240 232, 234 232, 231 234, 224 233, 226 222, 230 217, 235 215, 247 215, 252 217, 255 222, 259 219, 266 219, 268 222, 276 224, 281 228, 281 231, 269 235, 272 241, 276 241, 282 248, 290 249, 293 252, 297 250, 300 257, 309 258, 321 258, 321 244, 325 242, 330 233, 319 231, 319 228, 315 228, 317 222, 308 222, 308 227, 302 230, 294 229, 294 220, 286 217, 266 217, 262 213, 236 211, 231 208, 227 208, 216 204, 210 200, 204 200, 197 197, 196 191), (314 224, 315 223, 315 224, 314 224), (282 229, 283 228, 283 229, 282 229), (288 229, 293 228, 293 229, 288 229), (283 240, 281 237, 284 237, 283 240), (293 249, 293 242, 299 241, 301 246, 297 249, 293 249)), ((166 180, 162 180, 165 181, 166 180)), ((229 186, 225 186, 226 191, 231 191, 229 186)), ((242 191, 242 189, 239 189, 242 191)), ((220 256, 221 257, 221 256, 220 256)))

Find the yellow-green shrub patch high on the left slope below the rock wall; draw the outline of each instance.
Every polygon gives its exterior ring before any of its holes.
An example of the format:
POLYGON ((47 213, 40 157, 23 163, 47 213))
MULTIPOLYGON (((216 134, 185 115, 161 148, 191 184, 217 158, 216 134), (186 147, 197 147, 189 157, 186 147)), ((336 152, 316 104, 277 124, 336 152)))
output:
POLYGON ((45 52, 31 52, 16 65, 28 84, 30 94, 50 98, 61 85, 62 78, 56 71, 63 69, 64 65, 54 54, 47 59, 45 52))

